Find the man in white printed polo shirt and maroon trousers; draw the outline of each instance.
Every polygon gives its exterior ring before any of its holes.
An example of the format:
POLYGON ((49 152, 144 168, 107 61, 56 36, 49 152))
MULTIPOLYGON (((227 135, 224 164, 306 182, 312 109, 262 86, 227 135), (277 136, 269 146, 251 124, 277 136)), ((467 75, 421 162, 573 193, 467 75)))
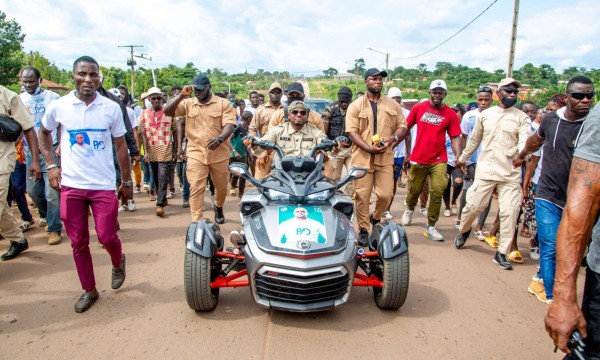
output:
POLYGON ((75 91, 48 106, 40 128, 40 149, 46 160, 50 185, 61 192, 61 218, 71 239, 73 258, 85 292, 75 303, 81 313, 99 297, 89 249, 88 208, 91 207, 98 241, 109 253, 112 288, 125 280, 125 255, 117 235, 118 200, 115 194, 115 143, 121 170, 119 195, 131 198, 132 182, 123 114, 117 103, 101 96, 96 60, 82 56, 73 63, 75 91), (52 157, 52 130, 60 125, 61 167, 52 157))

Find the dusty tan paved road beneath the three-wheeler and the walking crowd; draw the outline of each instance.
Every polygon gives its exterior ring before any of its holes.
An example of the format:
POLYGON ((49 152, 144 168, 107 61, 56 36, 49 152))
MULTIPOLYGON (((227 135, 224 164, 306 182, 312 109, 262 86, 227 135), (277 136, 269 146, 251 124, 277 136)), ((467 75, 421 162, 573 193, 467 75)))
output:
MULTIPOLYGON (((398 218, 403 196, 402 190, 392 207, 398 218)), ((410 288, 399 311, 379 310, 366 288, 354 289, 349 303, 333 311, 269 311, 241 288, 221 290, 217 309, 200 314, 183 294, 190 218, 181 193, 162 219, 147 195, 137 203, 136 212, 120 216, 127 280, 120 290, 110 289, 109 257, 94 243, 101 296, 84 314, 73 311, 81 290, 67 242, 46 245, 36 225, 26 234, 30 250, 0 263, 0 358, 561 358, 543 328, 546 305, 527 293, 537 262, 501 270, 492 263, 493 250, 473 239, 457 251, 449 241, 455 235, 450 218, 440 221, 448 239, 443 243, 421 235, 421 215, 407 228, 410 288)), ((225 208, 228 234, 240 220, 233 198, 225 208)), ((527 248, 526 239, 519 244, 527 248)), ((2 251, 6 247, 0 242, 2 251)))

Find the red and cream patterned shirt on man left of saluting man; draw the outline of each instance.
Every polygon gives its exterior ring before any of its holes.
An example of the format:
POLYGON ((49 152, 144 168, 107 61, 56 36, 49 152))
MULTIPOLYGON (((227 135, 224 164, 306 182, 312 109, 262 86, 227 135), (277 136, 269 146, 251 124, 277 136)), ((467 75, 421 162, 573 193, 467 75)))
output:
POLYGON ((144 156, 150 161, 173 161, 173 134, 177 131, 177 121, 166 116, 163 109, 146 109, 140 115, 140 134, 146 136, 148 148, 144 156))

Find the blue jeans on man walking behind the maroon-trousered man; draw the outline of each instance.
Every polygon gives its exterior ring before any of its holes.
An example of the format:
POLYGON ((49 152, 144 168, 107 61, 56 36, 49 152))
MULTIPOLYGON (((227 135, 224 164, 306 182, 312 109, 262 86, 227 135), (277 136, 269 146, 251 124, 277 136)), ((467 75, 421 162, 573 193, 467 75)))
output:
MULTIPOLYGON (((54 151, 57 145, 54 146, 54 151)), ((53 153, 54 153, 53 151, 53 153)), ((54 155, 54 162, 58 164, 58 158, 54 155)), ((27 154, 27 174, 31 166, 31 153, 27 154)), ((27 175, 27 193, 31 200, 36 204, 40 212, 40 218, 45 218, 48 222, 48 232, 62 232, 62 222, 60 220, 60 193, 50 186, 48 180, 48 170, 46 162, 40 156, 40 167, 42 169, 42 179, 35 182, 27 175)))

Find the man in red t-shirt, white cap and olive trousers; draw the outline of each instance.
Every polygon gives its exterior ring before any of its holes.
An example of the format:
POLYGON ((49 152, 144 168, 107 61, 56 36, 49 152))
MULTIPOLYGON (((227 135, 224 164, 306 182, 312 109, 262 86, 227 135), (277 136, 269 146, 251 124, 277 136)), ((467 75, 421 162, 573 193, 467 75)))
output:
POLYGON ((444 104, 447 94, 448 87, 444 80, 432 81, 429 86, 429 101, 415 105, 406 119, 409 130, 418 126, 419 131, 413 139, 415 146, 409 158, 411 171, 402 224, 406 226, 411 223, 423 184, 429 176, 427 230, 423 235, 433 241, 444 241, 435 224, 440 216, 442 194, 448 183, 446 133, 451 139, 452 151, 458 155, 462 152, 460 121, 456 112, 444 104))

